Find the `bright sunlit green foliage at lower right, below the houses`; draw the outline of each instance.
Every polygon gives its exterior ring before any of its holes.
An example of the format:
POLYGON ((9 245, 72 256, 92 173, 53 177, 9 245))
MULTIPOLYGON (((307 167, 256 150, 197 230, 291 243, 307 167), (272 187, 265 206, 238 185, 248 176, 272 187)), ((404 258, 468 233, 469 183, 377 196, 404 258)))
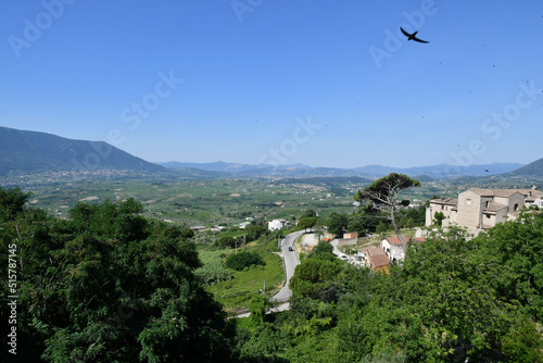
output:
POLYGON ((313 254, 291 310, 238 327, 248 362, 543 362, 543 214, 434 233, 380 274, 313 254))

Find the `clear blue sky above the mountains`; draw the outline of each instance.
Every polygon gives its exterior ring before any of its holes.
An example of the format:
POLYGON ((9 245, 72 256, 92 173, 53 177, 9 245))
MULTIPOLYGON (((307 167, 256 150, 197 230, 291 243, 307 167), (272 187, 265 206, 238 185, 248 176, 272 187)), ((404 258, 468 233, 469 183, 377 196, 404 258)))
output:
POLYGON ((151 162, 529 163, 542 34, 540 0, 4 0, 0 125, 151 162))

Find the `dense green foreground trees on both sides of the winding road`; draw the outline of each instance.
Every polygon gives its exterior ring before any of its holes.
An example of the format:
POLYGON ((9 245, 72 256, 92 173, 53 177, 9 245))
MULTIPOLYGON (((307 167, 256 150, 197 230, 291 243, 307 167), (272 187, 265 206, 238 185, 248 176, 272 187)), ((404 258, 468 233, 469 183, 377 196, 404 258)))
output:
MULTIPOLYGON (((0 267, 17 271, 17 361, 543 362, 536 210, 472 239, 440 229, 388 274, 346 264, 321 241, 295 270, 289 311, 266 314, 269 297, 254 291, 252 317, 228 321, 202 286, 232 274, 202 267, 189 229, 141 217, 131 199, 80 203, 67 220, 27 199, 0 188, 0 246, 16 254, 0 267)), ((262 236, 266 253, 276 238, 262 236)), ((232 256, 242 270, 262 261, 232 256)), ((2 361, 13 358, 8 349, 2 361)))

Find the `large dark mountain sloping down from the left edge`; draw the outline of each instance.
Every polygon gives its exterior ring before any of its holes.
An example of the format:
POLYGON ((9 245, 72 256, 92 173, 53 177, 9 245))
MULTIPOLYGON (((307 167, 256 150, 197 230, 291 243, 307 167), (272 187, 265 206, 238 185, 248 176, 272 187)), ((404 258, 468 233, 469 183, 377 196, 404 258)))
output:
POLYGON ((0 175, 81 170, 166 171, 103 141, 0 127, 0 175))

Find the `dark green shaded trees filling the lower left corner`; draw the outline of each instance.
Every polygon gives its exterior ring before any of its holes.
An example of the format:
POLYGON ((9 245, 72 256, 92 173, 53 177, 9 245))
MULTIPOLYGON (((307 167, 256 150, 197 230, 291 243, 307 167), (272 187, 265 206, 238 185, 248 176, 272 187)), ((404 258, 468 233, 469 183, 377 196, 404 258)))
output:
MULTIPOLYGON (((17 355, 4 346, 2 360, 229 361, 230 326, 194 276, 189 229, 139 216, 134 200, 80 203, 58 220, 26 209, 26 198, 0 188, 0 245, 16 245, 18 295, 17 355)), ((7 279, 2 322, 12 314, 7 279)))

